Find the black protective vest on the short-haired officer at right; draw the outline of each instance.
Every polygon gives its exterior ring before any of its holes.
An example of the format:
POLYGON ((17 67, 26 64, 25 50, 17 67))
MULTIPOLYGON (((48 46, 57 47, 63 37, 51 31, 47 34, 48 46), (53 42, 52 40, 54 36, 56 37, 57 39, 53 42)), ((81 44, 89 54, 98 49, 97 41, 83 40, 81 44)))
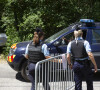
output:
POLYGON ((88 57, 86 49, 84 47, 84 40, 77 40, 77 43, 75 40, 71 42, 71 52, 73 58, 85 58, 88 57))

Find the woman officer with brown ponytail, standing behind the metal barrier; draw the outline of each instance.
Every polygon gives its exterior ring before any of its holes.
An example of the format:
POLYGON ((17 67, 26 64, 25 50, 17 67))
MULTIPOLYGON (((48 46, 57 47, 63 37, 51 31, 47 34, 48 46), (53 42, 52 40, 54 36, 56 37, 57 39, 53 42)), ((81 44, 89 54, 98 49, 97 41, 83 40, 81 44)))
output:
MULTIPOLYGON (((35 90, 35 65, 38 61, 50 58, 49 51, 46 44, 41 44, 44 38, 42 30, 36 30, 34 32, 33 41, 27 45, 25 57, 28 59, 29 79, 32 82, 31 90, 35 90)), ((43 76, 45 78, 45 74, 43 76)), ((43 86, 45 90, 50 90, 50 86, 46 80, 43 80, 43 86)))

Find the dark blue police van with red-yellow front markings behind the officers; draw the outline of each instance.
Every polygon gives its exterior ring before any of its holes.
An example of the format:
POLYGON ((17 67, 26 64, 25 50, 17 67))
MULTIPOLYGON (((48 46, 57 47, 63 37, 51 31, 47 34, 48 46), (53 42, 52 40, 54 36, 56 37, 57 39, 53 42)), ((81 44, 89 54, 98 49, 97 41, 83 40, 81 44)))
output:
MULTIPOLYGON (((100 22, 91 19, 81 19, 79 22, 69 25, 67 28, 47 38, 47 44, 51 56, 66 53, 68 43, 74 39, 75 26, 79 25, 83 30, 83 38, 89 41, 95 60, 100 69, 100 22)), ((7 62, 14 70, 20 72, 25 80, 27 77, 27 60, 24 57, 27 44, 30 41, 15 43, 11 46, 7 62)))

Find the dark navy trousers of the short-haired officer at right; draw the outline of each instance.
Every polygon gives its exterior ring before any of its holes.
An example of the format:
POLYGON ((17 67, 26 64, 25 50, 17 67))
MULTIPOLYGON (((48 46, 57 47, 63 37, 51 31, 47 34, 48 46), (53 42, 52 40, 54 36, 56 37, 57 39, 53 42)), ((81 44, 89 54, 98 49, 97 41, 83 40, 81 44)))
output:
POLYGON ((89 61, 75 61, 73 65, 75 90, 82 90, 83 77, 86 79, 87 90, 93 90, 93 72, 89 61))

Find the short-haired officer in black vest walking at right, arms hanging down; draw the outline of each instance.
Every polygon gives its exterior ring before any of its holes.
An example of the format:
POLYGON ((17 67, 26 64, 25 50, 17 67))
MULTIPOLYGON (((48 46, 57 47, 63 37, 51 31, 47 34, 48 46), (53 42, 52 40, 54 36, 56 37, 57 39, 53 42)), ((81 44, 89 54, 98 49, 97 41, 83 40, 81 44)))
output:
POLYGON ((97 72, 97 65, 94 56, 91 52, 88 41, 83 40, 82 30, 74 31, 75 40, 71 41, 67 47, 67 60, 69 67, 74 70, 75 90, 82 90, 82 78, 86 79, 87 90, 93 90, 92 76, 93 72, 90 67, 90 60, 92 61, 97 72), (71 64, 71 55, 74 59, 74 64, 71 64), (90 60, 88 60, 88 57, 90 60))

